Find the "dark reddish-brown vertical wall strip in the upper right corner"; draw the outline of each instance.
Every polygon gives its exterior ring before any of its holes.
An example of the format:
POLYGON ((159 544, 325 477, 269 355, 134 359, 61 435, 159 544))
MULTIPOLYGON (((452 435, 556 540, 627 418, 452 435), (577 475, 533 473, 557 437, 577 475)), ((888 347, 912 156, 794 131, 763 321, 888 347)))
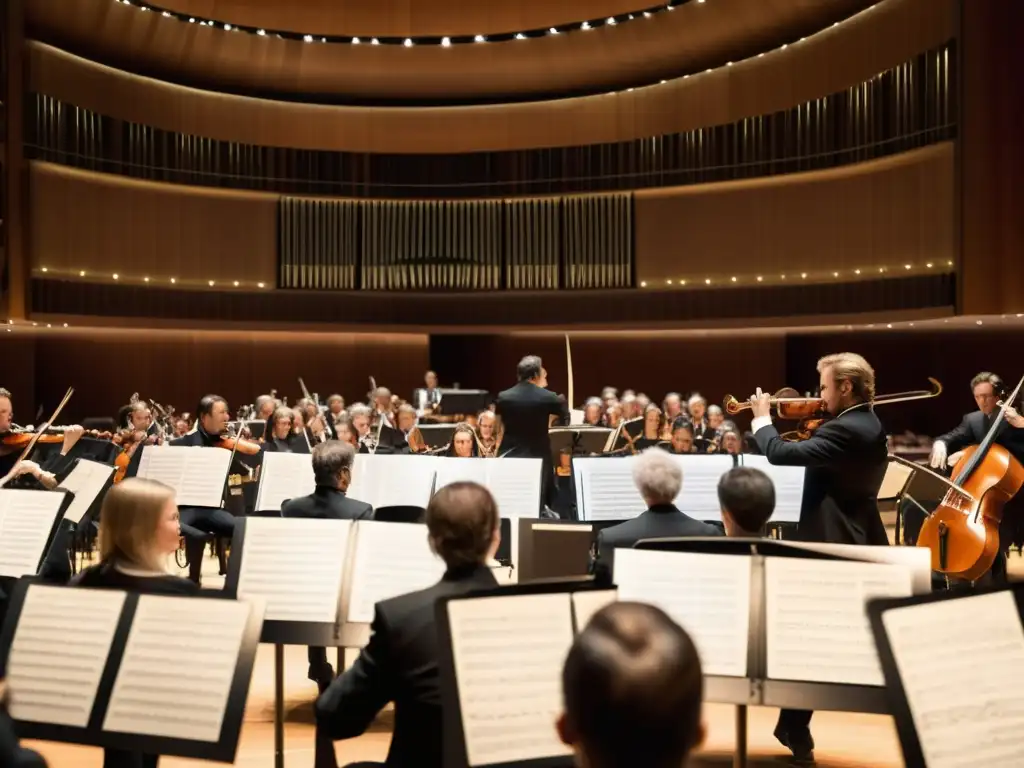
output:
POLYGON ((1024 310, 1024 3, 963 7, 963 294, 972 312, 1024 310))

